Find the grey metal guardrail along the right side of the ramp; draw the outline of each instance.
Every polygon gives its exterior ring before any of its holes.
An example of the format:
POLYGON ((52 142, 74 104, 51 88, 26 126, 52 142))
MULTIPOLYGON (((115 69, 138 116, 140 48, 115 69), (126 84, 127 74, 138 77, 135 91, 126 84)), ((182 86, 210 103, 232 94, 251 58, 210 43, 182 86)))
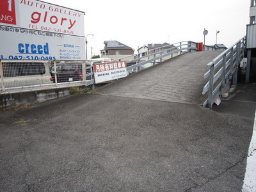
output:
POLYGON ((230 84, 236 87, 237 68, 244 58, 245 40, 244 36, 207 64, 210 70, 204 74, 204 79, 209 79, 202 92, 203 95, 208 92, 204 106, 212 108, 214 102, 221 98, 223 93, 228 92, 230 84))

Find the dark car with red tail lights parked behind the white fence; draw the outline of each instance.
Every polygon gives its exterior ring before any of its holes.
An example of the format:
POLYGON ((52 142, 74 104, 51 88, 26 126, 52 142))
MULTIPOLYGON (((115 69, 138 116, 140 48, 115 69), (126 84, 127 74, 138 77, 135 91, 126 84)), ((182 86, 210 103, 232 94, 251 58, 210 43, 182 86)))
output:
MULTIPOLYGON (((51 81, 55 83, 54 66, 50 68, 51 81)), ((83 81, 82 62, 68 62, 56 64, 57 83, 83 81)))

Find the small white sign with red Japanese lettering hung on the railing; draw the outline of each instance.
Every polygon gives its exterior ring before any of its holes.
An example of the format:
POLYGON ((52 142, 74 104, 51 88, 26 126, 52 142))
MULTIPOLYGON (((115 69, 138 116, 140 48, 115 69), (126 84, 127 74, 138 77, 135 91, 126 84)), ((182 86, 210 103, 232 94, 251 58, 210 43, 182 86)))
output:
POLYGON ((126 62, 93 64, 95 83, 102 83, 127 76, 126 62))

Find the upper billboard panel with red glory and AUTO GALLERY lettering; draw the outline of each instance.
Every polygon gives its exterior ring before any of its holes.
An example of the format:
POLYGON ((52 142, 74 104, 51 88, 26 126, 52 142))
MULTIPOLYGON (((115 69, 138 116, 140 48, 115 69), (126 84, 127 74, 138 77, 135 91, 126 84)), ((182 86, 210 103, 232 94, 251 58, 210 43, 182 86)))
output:
POLYGON ((84 12, 35 0, 1 0, 4 26, 84 36, 84 12))

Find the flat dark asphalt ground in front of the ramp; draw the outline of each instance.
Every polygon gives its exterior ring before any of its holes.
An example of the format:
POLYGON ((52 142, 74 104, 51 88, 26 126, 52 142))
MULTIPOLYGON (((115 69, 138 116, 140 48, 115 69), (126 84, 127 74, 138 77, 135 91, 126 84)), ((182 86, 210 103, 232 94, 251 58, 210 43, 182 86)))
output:
POLYGON ((2 112, 0 191, 241 191, 255 90, 213 109, 81 94, 2 112))

